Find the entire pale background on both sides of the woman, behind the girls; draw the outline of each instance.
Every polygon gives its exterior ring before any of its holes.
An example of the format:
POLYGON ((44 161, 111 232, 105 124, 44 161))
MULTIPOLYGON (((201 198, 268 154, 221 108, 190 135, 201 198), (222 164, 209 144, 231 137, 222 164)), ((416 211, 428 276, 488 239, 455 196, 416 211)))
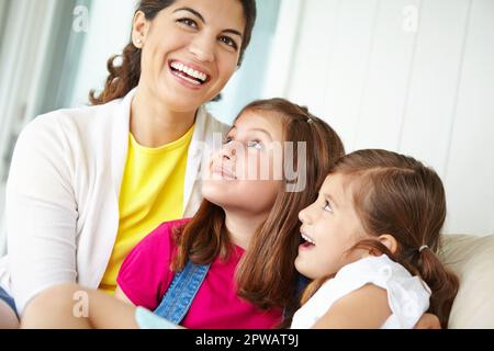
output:
MULTIPOLYGON (((44 87, 57 88, 48 64, 67 53, 58 107, 87 102, 128 41, 136 0, 32 2, 0 0, 0 254, 11 147, 46 112, 44 87), (56 34, 76 4, 88 5, 89 27, 66 43, 56 34)), ((231 122, 258 98, 305 104, 348 151, 386 148, 434 167, 448 195, 445 233, 494 234, 494 0, 258 0, 258 9, 243 68, 209 106, 216 117, 231 122)))

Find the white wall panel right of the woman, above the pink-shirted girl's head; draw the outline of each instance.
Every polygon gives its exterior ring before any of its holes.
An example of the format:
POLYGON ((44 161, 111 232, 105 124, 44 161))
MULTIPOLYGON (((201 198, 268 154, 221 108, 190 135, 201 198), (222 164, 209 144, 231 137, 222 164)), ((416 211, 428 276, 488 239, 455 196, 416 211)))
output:
POLYGON ((352 138, 379 0, 304 2, 288 98, 352 138))

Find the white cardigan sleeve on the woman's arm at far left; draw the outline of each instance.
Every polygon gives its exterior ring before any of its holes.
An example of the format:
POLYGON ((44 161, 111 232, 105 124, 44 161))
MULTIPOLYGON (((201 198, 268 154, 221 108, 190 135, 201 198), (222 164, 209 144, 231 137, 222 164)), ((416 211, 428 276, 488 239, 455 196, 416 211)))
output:
POLYGON ((12 291, 22 314, 35 295, 76 281, 78 218, 70 147, 53 116, 20 135, 5 194, 12 291))

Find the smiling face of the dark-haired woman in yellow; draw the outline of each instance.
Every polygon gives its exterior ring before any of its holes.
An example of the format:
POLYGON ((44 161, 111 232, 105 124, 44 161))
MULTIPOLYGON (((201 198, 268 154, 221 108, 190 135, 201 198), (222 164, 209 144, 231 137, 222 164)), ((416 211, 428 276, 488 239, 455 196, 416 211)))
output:
POLYGON ((153 21, 138 12, 133 41, 142 41, 139 87, 172 111, 195 111, 235 72, 245 23, 238 0, 177 0, 153 21))

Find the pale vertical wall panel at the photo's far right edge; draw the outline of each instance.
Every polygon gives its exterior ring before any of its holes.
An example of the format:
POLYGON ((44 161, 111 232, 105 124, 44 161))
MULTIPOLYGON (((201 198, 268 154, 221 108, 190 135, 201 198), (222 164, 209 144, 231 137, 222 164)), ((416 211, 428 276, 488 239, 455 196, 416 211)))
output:
POLYGON ((446 185, 448 231, 493 234, 494 1, 474 0, 446 185))

